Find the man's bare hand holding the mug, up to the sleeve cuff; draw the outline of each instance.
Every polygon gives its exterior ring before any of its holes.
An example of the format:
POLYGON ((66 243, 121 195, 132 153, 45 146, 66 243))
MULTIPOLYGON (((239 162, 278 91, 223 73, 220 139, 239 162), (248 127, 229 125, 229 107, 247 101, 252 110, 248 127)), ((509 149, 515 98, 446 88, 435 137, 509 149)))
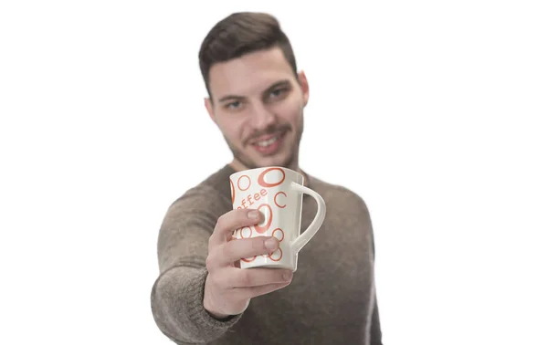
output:
POLYGON ((279 247, 273 236, 259 236, 234 240, 234 230, 257 225, 263 215, 257 210, 233 210, 217 220, 209 237, 209 254, 205 260, 204 307, 217 319, 237 315, 246 310, 251 298, 268 294, 290 285, 290 269, 239 268, 241 258, 270 254, 279 247))

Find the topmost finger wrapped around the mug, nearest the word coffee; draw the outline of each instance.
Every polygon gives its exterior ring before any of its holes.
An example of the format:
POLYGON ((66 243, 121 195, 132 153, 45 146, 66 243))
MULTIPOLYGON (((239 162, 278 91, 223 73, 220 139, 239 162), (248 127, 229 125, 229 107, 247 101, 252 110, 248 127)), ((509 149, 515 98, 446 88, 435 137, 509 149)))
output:
POLYGON ((262 222, 263 215, 258 210, 232 210, 221 215, 216 222, 213 234, 209 237, 210 246, 220 246, 227 242, 232 233, 243 226, 256 225, 262 222))

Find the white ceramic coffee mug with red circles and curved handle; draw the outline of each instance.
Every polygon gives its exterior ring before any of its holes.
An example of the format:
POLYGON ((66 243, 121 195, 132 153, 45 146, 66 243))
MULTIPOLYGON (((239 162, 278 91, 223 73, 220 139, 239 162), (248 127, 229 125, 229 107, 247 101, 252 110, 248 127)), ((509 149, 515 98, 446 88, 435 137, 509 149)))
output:
POLYGON ((251 208, 264 215, 264 222, 237 229, 235 239, 275 236, 279 248, 270 255, 240 260, 241 268, 273 267, 297 270, 300 249, 316 235, 325 218, 325 202, 319 193, 303 185, 304 177, 282 167, 265 167, 230 175, 234 209, 251 208), (300 234, 302 193, 310 194, 318 203, 311 225, 300 234))

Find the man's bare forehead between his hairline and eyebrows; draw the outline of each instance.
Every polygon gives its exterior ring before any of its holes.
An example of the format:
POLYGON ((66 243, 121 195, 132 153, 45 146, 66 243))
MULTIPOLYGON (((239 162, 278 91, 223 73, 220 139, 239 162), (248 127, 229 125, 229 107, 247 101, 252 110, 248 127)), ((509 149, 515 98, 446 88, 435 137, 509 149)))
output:
POLYGON ((214 99, 227 95, 245 97, 258 94, 281 79, 295 78, 281 49, 274 47, 216 63, 209 71, 209 89, 214 99))

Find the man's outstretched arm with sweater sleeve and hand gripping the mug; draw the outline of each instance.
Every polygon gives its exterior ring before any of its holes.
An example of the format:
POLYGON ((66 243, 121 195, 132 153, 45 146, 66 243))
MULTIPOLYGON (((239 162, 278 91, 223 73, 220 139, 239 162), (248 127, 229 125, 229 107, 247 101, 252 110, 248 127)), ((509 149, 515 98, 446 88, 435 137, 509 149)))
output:
POLYGON ((233 241, 234 229, 258 224, 262 215, 227 210, 221 195, 201 188, 186 193, 164 218, 158 240, 161 273, 151 294, 156 324, 181 345, 221 337, 242 317, 250 298, 284 288, 292 277, 290 270, 236 267, 241 257, 274 252, 279 242, 271 236, 233 241))

